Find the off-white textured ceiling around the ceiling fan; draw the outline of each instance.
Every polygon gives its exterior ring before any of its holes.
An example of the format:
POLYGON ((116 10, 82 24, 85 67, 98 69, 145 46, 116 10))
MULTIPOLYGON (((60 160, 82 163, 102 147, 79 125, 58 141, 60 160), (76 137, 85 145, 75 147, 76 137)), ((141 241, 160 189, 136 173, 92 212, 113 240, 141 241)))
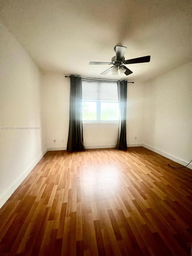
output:
POLYGON ((37 65, 66 75, 147 81, 191 60, 188 0, 18 0, 1 2, 1 20, 37 65), (101 72, 114 46, 125 59, 151 55, 149 63, 127 65, 128 77, 101 72))

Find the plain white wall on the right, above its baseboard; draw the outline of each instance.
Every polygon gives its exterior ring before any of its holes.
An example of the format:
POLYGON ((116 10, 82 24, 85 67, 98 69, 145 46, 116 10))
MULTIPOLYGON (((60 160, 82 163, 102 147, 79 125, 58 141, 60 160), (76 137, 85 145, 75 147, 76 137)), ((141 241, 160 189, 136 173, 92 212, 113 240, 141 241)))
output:
POLYGON ((191 78, 188 63, 147 83, 145 92, 144 144, 182 164, 192 158, 191 78))

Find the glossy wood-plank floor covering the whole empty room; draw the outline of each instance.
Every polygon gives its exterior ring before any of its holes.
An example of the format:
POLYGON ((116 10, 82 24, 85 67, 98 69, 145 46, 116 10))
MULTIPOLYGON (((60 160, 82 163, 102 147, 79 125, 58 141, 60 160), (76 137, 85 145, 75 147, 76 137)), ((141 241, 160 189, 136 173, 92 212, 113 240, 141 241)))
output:
POLYGON ((0 209, 1 255, 190 255, 192 170, 143 147, 50 151, 0 209))

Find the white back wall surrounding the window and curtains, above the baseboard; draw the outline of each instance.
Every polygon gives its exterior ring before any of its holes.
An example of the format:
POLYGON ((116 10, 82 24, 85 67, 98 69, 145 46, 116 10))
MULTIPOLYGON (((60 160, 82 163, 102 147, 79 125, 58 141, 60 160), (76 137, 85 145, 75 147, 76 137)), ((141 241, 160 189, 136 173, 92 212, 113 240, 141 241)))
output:
MULTIPOLYGON (((66 149, 69 130, 70 79, 64 74, 45 72, 43 76, 44 113, 48 150, 66 149), (64 139, 64 143, 61 140, 64 139), (56 140, 56 143, 53 141, 56 140)), ((144 86, 128 84, 127 143, 142 143, 144 86), (135 140, 137 137, 137 140, 135 140)), ((115 147, 118 124, 83 124, 85 148, 115 147)))

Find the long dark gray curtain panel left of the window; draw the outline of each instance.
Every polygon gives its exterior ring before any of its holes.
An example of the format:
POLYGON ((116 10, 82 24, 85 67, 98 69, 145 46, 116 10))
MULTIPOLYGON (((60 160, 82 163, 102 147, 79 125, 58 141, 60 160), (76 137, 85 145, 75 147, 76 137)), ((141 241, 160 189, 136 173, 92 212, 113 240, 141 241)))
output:
POLYGON ((70 111, 67 151, 85 151, 82 128, 82 80, 70 76, 70 111))

